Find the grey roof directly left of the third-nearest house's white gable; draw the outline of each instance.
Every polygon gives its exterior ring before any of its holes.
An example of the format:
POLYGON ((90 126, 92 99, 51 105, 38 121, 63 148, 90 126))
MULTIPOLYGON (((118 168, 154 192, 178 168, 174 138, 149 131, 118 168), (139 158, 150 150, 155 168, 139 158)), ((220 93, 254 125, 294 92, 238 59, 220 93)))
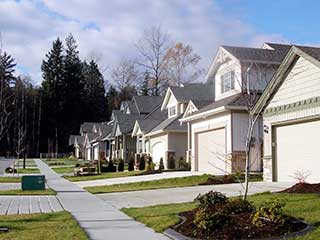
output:
POLYGON ((161 104, 162 99, 161 96, 134 96, 132 101, 140 114, 148 114, 161 104))

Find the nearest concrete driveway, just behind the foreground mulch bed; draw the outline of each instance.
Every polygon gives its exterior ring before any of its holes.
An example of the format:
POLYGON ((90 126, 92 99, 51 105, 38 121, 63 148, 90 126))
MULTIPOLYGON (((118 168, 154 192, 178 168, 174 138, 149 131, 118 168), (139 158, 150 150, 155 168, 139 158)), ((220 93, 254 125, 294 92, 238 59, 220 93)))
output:
MULTIPOLYGON (((292 183, 253 182, 250 183, 249 194, 266 191, 277 192, 292 186, 292 183)), ((243 192, 241 184, 222 184, 209 186, 180 187, 121 193, 104 193, 97 196, 108 205, 118 209, 123 207, 145 207, 158 204, 191 202, 198 194, 210 190, 225 193, 227 196, 238 196, 243 192)))

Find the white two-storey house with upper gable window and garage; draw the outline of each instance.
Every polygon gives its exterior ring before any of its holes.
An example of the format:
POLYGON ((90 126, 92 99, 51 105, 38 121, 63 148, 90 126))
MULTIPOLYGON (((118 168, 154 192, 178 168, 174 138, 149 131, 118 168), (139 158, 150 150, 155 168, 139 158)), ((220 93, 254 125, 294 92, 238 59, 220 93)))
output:
MULTIPOLYGON (((248 104, 264 90, 290 46, 221 46, 206 79, 214 100, 189 101, 181 119, 188 126, 188 156, 193 171, 228 174, 244 170, 248 104)), ((251 171, 261 171, 262 120, 254 130, 251 171)))

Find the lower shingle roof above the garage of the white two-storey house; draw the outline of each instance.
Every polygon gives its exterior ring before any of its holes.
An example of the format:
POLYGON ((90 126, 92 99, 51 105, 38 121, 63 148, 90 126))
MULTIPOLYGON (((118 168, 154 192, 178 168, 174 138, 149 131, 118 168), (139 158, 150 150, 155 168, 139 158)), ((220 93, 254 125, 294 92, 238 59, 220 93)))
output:
POLYGON ((245 93, 238 93, 238 94, 232 95, 230 97, 226 97, 226 98, 220 99, 218 101, 215 101, 215 102, 207 105, 206 107, 200 109, 199 111, 195 112, 194 114, 191 114, 191 116, 202 113, 202 112, 206 112, 209 110, 213 110, 213 109, 219 108, 219 107, 225 107, 225 108, 246 107, 248 105, 248 103, 250 103, 250 104, 256 103, 258 101, 259 97, 260 97, 260 94, 249 96, 245 93))

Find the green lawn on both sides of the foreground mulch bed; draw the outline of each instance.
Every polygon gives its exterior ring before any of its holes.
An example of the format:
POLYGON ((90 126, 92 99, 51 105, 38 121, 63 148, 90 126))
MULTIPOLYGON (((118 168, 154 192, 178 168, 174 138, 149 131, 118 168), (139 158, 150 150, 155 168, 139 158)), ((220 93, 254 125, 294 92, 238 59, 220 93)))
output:
MULTIPOLYGON (((295 239, 320 239, 320 196, 316 194, 257 194, 250 196, 249 199, 256 205, 262 202, 281 198, 285 199, 287 204, 284 213, 295 218, 304 219, 306 222, 315 226, 315 229, 295 239)), ((176 214, 195 208, 195 203, 180 203, 157 205, 144 208, 123 208, 122 211, 134 219, 146 224, 157 232, 163 232, 168 227, 179 222, 176 214)))

